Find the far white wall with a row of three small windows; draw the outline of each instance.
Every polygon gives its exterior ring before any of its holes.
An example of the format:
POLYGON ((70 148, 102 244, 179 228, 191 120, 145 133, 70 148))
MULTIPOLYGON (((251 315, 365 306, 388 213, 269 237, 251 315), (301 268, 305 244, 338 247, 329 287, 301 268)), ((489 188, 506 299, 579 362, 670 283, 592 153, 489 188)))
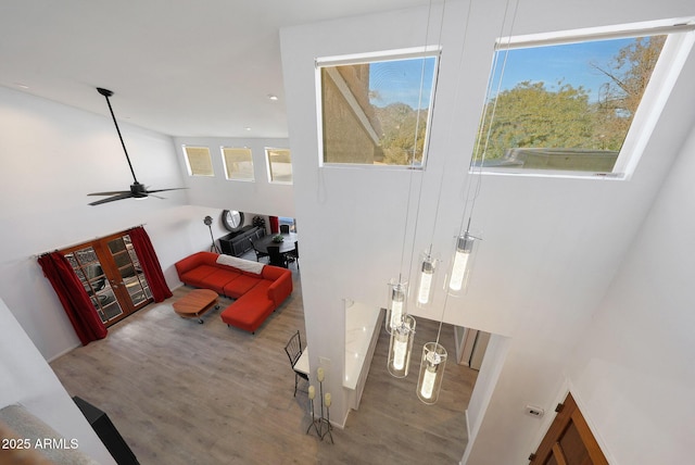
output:
MULTIPOLYGON (((174 139, 181 173, 187 173, 182 146, 207 147, 213 161, 214 177, 186 176, 186 185, 191 189, 189 202, 192 205, 216 206, 223 210, 238 210, 263 215, 294 217, 294 189, 292 185, 268 181, 266 148, 289 149, 285 139, 263 138, 219 138, 219 137, 177 137, 174 139), (254 180, 229 180, 225 176, 225 166, 219 148, 249 148, 253 156, 254 180)), ((292 153, 292 156, 301 156, 292 153)), ((249 219, 249 218, 247 218, 249 219)))

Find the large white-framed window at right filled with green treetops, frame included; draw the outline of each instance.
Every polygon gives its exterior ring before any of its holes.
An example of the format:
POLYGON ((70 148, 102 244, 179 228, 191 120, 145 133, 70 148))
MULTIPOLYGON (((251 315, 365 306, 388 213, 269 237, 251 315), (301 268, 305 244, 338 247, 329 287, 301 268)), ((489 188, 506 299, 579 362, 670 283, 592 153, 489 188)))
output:
POLYGON ((682 28, 500 39, 471 168, 626 177, 678 76, 682 28))

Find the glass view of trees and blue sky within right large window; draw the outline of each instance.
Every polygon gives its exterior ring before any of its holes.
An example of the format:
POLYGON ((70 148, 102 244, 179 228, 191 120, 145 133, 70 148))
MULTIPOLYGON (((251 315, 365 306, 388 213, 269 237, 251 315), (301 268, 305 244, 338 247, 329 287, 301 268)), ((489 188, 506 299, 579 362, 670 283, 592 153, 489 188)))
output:
POLYGON ((610 172, 665 39, 498 50, 505 72, 493 74, 500 91, 485 105, 472 163, 610 172))

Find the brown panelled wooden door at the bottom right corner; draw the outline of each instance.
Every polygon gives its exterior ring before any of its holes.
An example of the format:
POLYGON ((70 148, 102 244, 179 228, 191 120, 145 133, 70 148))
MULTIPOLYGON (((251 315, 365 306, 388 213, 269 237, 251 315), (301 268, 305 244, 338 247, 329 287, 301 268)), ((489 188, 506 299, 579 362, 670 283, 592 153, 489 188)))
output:
POLYGON ((556 412, 531 465, 608 465, 571 393, 556 412))

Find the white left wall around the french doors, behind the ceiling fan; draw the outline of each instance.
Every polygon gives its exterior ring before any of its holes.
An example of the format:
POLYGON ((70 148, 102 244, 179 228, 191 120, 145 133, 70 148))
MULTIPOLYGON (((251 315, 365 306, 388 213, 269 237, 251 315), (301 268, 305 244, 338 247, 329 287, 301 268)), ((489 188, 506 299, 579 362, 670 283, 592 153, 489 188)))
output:
MULTIPOLYGON (((184 186, 169 137, 119 125, 138 180, 184 186)), ((46 359, 79 340, 37 254, 144 224, 169 286, 176 286, 173 263, 210 247, 203 217, 218 218, 220 211, 184 206, 187 190, 165 192, 164 200, 88 205, 99 198, 87 193, 132 183, 110 116, 0 87, 0 297, 46 359)), ((222 225, 215 227, 220 236, 222 225)))

